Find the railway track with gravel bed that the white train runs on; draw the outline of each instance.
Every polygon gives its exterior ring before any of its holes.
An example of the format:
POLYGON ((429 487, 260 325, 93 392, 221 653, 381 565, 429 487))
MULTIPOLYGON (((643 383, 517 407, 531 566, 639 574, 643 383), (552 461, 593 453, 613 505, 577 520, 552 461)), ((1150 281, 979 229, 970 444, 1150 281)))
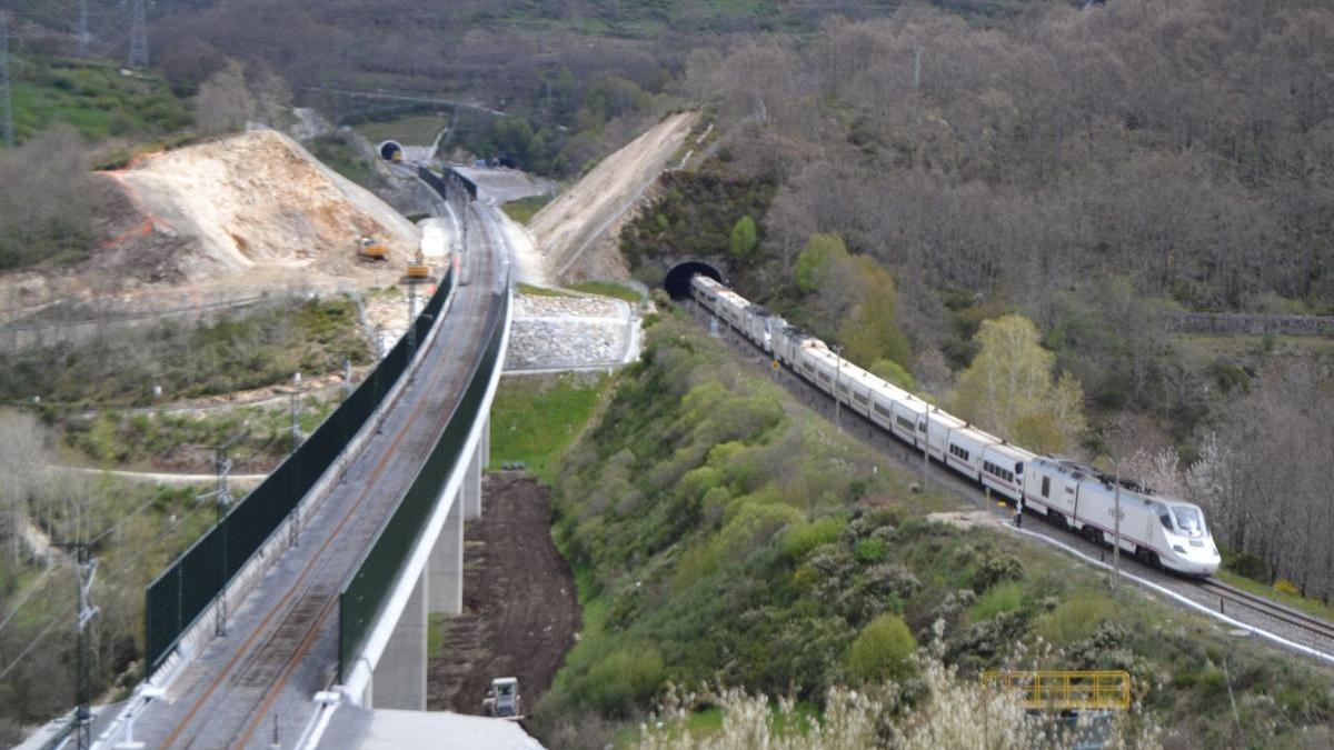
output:
MULTIPOLYGON (((710 326, 708 320, 712 315, 707 310, 703 310, 694 302, 687 302, 686 304, 692 311, 698 322, 706 327, 710 326)), ((740 335, 726 320, 719 318, 718 322, 718 334, 730 347, 736 350, 743 356, 756 360, 758 364, 766 366, 766 370, 768 370, 767 366, 771 362, 770 355, 760 350, 754 342, 740 335)), ((786 388, 807 406, 815 408, 826 419, 831 419, 834 404, 832 396, 814 387, 787 367, 774 370, 772 372, 779 386, 786 388)), ((996 515, 1009 515, 1009 511, 998 511, 994 503, 987 502, 987 498, 976 483, 968 482, 952 471, 946 471, 944 467, 935 459, 923 462, 922 454, 918 452, 916 448, 908 447, 896 436, 890 435, 863 415, 859 415, 848 408, 842 411, 842 426, 844 431, 878 450, 886 458, 899 464, 904 471, 922 475, 923 480, 931 487, 943 488, 980 510, 986 510, 996 515), (924 474, 923 468, 926 468, 924 474)), ((1025 514, 1025 520, 1029 522, 1025 523, 1026 531, 1041 530, 1043 536, 1061 542, 1067 547, 1074 547, 1091 558, 1098 558, 1109 563, 1111 560, 1111 547, 1109 544, 1101 544, 1069 531, 1061 524, 1050 522, 1050 519, 1041 514, 1025 514), (1035 524, 1033 523, 1034 520, 1042 520, 1043 523, 1035 524)), ((1218 611, 1219 614, 1227 615, 1229 618, 1242 622, 1249 627, 1279 635, 1317 651, 1334 654, 1334 625, 1329 622, 1279 605, 1278 602, 1266 599, 1261 595, 1251 594, 1250 591, 1223 583, 1215 578, 1205 581, 1186 578, 1159 567, 1145 565, 1131 555, 1122 555, 1121 566, 1126 573, 1131 573, 1139 578, 1149 579, 1158 586, 1170 589, 1175 594, 1186 597, 1201 606, 1218 611)))

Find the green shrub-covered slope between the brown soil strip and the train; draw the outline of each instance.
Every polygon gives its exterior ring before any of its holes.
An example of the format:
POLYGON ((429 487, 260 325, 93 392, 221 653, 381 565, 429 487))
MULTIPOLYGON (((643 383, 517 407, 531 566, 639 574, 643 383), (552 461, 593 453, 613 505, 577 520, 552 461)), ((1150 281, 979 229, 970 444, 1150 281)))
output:
POLYGON ((558 470, 555 535, 586 630, 538 707, 551 746, 627 742, 668 682, 819 711, 831 686, 892 678, 902 710, 926 667, 867 646, 886 622, 919 655, 935 642, 964 681, 1129 670, 1139 715, 1174 746, 1331 739, 1327 677, 1138 591, 1113 598, 1101 575, 999 528, 934 519, 954 500, 914 492, 682 315, 650 330, 644 363, 558 470))

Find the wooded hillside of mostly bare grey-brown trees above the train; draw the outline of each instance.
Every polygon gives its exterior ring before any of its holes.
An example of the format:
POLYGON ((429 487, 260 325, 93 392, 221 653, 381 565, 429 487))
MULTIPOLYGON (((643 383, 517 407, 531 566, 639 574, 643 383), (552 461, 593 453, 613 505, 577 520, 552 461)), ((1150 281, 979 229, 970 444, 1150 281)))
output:
POLYGON ((1334 597, 1327 462, 1307 454, 1334 438, 1285 407, 1329 400, 1330 358, 1277 338, 1202 355, 1167 330, 1181 310, 1334 312, 1329 4, 1033 3, 988 24, 915 7, 696 49, 682 91, 724 135, 623 234, 639 278, 682 248, 715 258, 748 299, 996 434, 1019 435, 1018 411, 967 403, 968 374, 1022 316, 1054 384, 1038 400, 1089 414, 1029 415, 1031 447, 1133 463, 1210 511, 1234 570, 1334 597), (747 218, 758 244, 738 255, 747 218), (811 283, 830 238, 859 270, 811 283), (858 340, 852 279, 876 268, 907 352, 858 340), (1273 523, 1274 503, 1313 522, 1273 523))

